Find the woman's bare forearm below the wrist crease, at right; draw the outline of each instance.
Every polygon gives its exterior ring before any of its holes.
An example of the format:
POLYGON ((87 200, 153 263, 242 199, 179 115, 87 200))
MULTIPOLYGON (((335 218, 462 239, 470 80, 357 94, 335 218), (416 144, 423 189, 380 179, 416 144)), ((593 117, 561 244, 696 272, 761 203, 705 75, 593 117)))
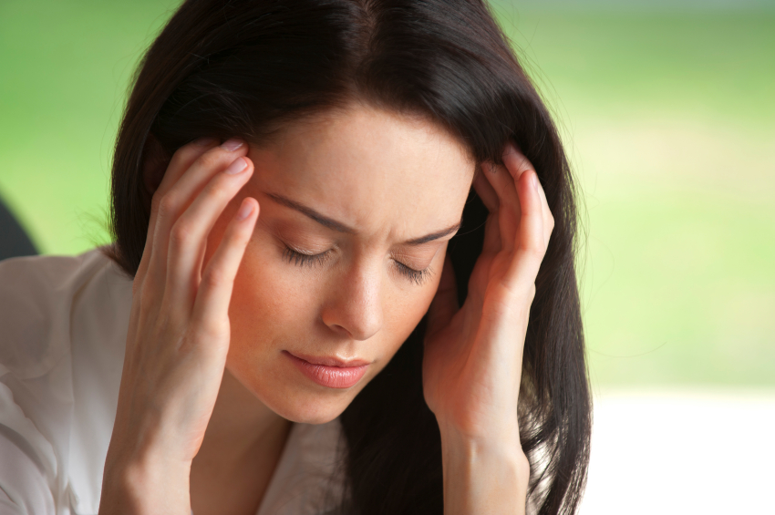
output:
POLYGON ((444 515, 522 515, 530 464, 519 437, 474 440, 454 430, 441 433, 444 515))

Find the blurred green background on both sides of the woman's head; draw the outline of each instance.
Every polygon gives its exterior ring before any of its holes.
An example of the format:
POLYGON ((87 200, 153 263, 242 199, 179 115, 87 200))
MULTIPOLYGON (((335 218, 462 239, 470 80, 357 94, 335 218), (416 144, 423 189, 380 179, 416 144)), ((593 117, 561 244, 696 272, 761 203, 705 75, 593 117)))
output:
MULTIPOLYGON (((0 196, 40 252, 109 241, 129 77, 175 5, 0 2, 0 196)), ((775 1, 494 10, 584 193, 595 390, 775 386, 775 1)))

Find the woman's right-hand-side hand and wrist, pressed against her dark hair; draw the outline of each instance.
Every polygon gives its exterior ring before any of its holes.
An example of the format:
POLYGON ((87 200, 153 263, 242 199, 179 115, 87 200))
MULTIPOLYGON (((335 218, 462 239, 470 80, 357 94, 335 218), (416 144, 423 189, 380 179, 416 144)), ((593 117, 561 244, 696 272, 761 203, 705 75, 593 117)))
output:
POLYGON ((517 420, 522 349, 554 220, 532 164, 511 144, 503 163, 484 163, 474 180, 490 215, 465 304, 459 309, 448 257, 429 309, 423 388, 441 431, 448 514, 512 512, 517 495, 524 510, 529 465, 517 420))

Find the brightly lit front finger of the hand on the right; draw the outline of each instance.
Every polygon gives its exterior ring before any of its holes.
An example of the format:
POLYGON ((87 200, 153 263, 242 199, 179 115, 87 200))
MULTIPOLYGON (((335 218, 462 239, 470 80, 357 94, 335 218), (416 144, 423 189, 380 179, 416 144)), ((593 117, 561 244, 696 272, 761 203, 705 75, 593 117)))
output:
POLYGON ((517 184, 522 203, 519 236, 504 282, 512 291, 529 292, 541 266, 546 245, 543 237, 542 200, 538 177, 525 170, 517 184))

